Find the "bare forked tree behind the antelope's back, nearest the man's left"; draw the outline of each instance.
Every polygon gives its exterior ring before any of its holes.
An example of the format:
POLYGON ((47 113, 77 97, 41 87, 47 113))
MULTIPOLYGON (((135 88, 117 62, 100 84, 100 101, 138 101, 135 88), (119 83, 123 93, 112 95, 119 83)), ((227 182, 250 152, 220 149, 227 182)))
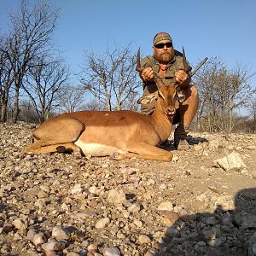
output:
POLYGON ((137 92, 140 80, 135 70, 136 57, 131 44, 124 49, 107 49, 105 55, 85 52, 85 68, 81 82, 107 110, 124 108, 131 94, 137 92))

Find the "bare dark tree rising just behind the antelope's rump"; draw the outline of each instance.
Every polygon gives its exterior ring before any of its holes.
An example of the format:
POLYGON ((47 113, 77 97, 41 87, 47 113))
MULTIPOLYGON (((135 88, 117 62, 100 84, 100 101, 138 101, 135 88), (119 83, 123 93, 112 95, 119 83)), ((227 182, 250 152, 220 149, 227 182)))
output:
POLYGON ((68 76, 69 70, 61 60, 52 61, 44 56, 38 60, 37 66, 31 67, 26 73, 22 88, 30 97, 40 122, 49 119, 55 107, 56 94, 67 83, 68 76))

